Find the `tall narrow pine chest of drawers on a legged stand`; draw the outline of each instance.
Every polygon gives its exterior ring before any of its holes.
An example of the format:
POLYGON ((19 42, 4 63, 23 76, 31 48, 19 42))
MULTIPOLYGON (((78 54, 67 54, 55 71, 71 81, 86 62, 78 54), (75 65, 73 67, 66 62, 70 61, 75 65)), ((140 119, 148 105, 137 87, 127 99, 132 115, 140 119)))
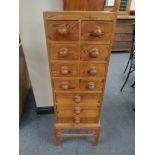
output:
POLYGON ((114 36, 112 12, 44 12, 49 70, 54 98, 54 137, 92 136, 96 145, 114 36), (61 129, 92 129, 64 134, 61 129))

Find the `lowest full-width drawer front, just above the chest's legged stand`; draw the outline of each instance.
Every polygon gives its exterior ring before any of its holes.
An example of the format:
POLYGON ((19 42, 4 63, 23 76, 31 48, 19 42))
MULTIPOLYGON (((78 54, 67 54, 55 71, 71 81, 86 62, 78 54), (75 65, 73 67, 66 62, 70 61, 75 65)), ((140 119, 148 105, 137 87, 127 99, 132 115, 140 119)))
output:
POLYGON ((59 117, 58 123, 74 123, 74 124, 80 124, 80 123, 98 123, 98 117, 79 117, 80 121, 79 123, 76 123, 75 117, 59 117))

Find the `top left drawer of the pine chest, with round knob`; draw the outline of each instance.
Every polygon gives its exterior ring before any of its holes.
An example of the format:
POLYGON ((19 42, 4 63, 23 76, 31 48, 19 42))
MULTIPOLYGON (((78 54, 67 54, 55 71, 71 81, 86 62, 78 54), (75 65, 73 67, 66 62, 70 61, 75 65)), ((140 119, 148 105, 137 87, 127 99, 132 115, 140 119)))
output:
POLYGON ((54 41, 75 41, 79 39, 77 21, 48 21, 47 39, 54 41))

